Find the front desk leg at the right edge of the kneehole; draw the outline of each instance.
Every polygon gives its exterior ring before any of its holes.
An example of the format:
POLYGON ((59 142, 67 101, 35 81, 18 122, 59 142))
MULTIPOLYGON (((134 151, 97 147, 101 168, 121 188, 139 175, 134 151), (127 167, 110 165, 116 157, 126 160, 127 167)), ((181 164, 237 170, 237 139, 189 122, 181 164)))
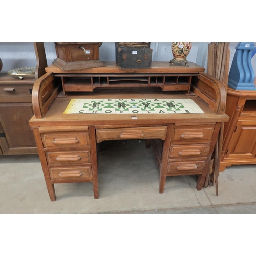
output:
POLYGON ((173 125, 168 124, 167 126, 167 133, 166 138, 163 145, 163 153, 162 153, 162 161, 160 165, 160 178, 159 178, 159 193, 163 193, 165 180, 166 180, 166 173, 168 168, 169 162, 169 152, 170 152, 170 142, 171 142, 171 134, 172 134, 173 125))

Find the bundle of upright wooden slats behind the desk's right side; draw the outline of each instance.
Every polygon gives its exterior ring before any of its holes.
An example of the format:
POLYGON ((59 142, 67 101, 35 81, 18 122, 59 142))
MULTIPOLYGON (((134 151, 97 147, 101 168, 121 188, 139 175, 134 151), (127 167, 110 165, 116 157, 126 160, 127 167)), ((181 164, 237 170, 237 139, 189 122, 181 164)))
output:
MULTIPOLYGON (((208 46, 208 63, 207 73, 221 81, 223 81, 226 92, 228 85, 229 72, 229 42, 211 42, 208 46)), ((216 195, 218 196, 218 176, 220 166, 220 156, 223 140, 224 123, 222 123, 218 140, 215 145, 214 158, 212 159, 212 169, 207 174, 205 187, 210 183, 216 185, 216 195)))

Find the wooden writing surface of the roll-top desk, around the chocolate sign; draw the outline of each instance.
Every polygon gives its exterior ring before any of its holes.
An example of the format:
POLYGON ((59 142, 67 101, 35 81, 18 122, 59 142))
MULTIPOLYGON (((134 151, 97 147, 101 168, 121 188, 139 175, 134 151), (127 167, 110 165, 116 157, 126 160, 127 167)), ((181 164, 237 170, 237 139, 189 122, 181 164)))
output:
POLYGON ((148 90, 144 91, 143 98, 162 98, 162 99, 192 99, 204 113, 202 114, 63 114, 71 99, 98 99, 104 98, 141 98, 138 90, 134 92, 113 92, 113 90, 102 90, 84 95, 73 94, 67 97, 58 97, 50 106, 48 112, 42 119, 33 117, 30 120, 32 126, 57 126, 57 125, 161 125, 168 123, 206 123, 224 122, 228 120, 226 114, 216 114, 210 110, 207 104, 196 97, 194 94, 174 94, 170 92, 148 90))

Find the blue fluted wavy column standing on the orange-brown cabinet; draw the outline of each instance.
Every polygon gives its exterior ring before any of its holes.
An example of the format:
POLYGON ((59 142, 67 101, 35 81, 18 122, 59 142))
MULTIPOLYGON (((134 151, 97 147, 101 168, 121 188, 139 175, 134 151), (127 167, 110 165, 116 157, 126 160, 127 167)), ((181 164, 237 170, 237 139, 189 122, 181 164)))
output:
POLYGON ((236 90, 256 90, 251 66, 253 42, 239 42, 229 71, 228 86, 236 90))

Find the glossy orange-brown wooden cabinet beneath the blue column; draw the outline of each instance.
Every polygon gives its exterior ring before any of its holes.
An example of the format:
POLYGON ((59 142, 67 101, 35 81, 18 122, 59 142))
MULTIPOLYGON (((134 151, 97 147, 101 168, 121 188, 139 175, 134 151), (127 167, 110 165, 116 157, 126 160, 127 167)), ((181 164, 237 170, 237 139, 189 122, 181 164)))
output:
POLYGON ((228 88, 220 171, 227 166, 256 164, 256 90, 228 88))

